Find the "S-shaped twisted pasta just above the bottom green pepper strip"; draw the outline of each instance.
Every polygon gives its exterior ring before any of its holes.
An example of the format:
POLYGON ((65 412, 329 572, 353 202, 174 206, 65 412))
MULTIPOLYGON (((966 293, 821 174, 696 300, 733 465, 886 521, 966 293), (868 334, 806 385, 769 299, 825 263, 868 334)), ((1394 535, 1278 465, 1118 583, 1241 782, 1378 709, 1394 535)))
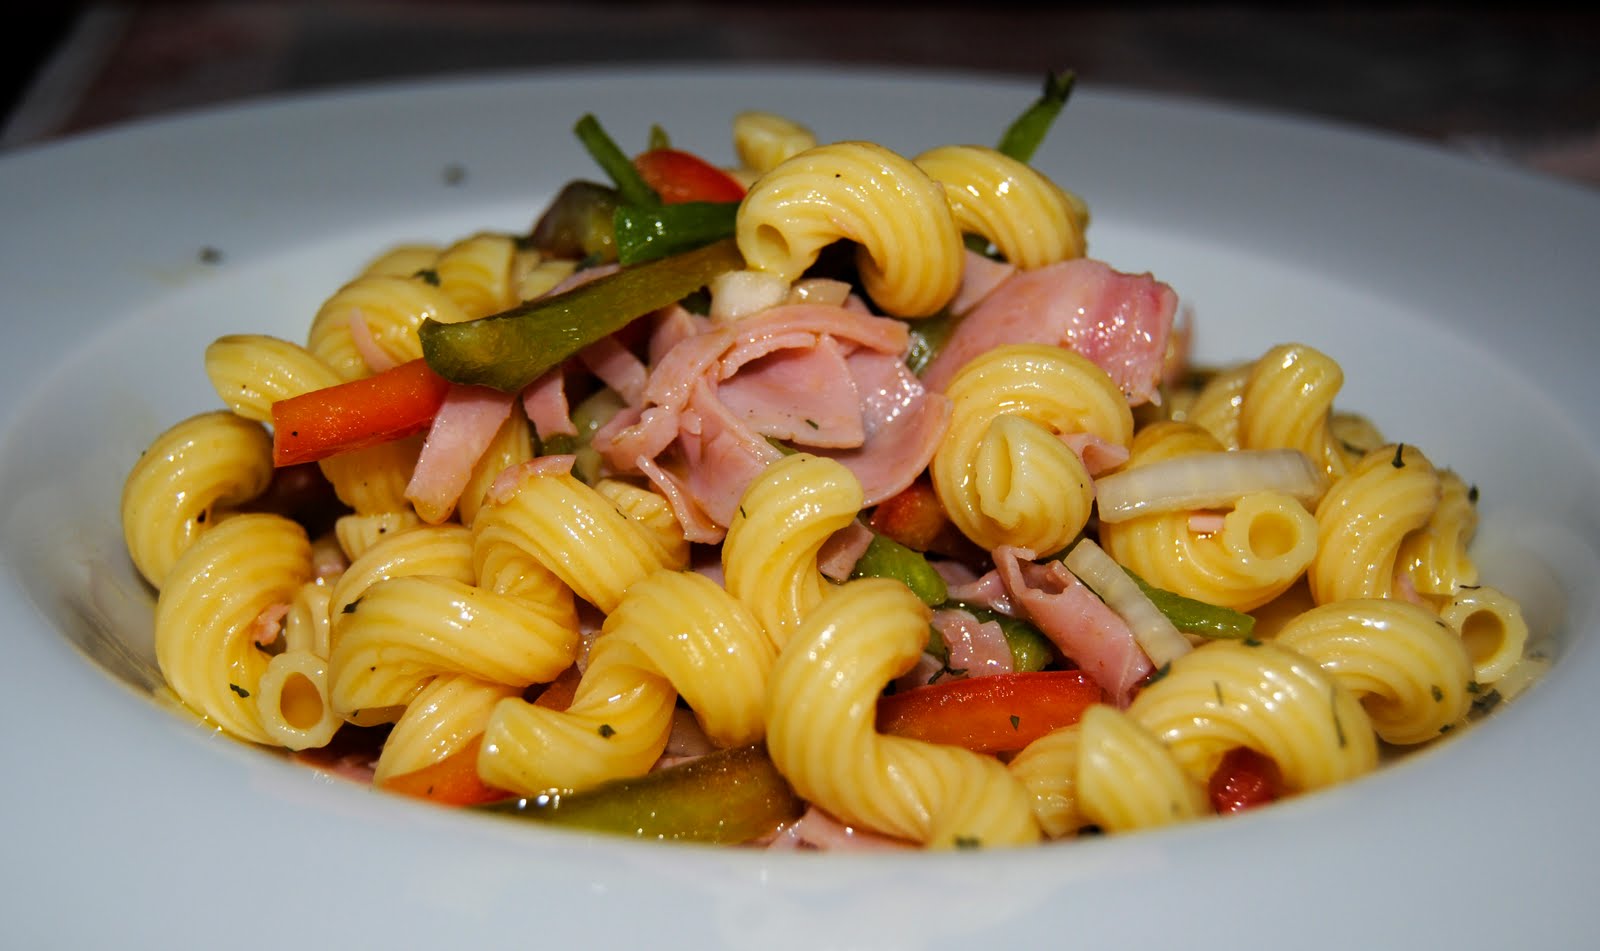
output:
POLYGON ((667 744, 680 695, 718 746, 755 743, 774 656, 750 612, 715 581, 656 572, 606 615, 565 711, 494 706, 478 773, 525 796, 642 775, 667 744))

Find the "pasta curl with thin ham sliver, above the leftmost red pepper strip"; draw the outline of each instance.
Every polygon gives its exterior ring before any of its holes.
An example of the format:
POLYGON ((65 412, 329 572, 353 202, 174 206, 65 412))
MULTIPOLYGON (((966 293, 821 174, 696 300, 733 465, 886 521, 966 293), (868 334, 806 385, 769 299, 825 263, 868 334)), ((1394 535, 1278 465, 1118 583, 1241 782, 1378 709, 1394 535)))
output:
POLYGON ((394 363, 422 355, 418 327, 422 320, 456 323, 467 314, 443 291, 422 277, 373 275, 358 277, 328 298, 310 325, 307 347, 328 363, 339 379, 371 375, 352 322, 360 322, 382 354, 394 363))

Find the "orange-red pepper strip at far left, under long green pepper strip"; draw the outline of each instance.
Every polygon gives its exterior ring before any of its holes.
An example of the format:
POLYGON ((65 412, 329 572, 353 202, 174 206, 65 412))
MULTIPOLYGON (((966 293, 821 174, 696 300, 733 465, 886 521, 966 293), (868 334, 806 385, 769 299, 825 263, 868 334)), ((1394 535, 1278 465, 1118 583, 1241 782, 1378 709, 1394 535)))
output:
POLYGON ((422 432, 450 383, 421 359, 272 403, 272 464, 293 466, 422 432))

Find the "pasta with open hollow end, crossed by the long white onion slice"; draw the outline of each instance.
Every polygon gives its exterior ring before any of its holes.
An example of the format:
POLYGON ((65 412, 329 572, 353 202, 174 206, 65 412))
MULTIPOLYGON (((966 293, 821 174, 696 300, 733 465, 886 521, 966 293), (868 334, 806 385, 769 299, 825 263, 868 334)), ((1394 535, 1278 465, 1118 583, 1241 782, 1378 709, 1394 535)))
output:
MULTIPOLYGON (((1154 423, 1133 439, 1125 471, 1190 453, 1224 451, 1192 423, 1154 423)), ((1195 528, 1194 512, 1150 512, 1102 522, 1101 548, 1157 588, 1248 612, 1290 588, 1317 554, 1317 520, 1282 492, 1253 492, 1195 528)))

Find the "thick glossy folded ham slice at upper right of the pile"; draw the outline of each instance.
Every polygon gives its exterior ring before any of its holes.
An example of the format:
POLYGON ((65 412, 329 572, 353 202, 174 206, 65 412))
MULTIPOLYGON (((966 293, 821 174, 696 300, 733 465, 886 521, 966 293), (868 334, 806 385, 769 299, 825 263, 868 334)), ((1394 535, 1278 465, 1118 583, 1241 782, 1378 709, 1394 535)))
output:
POLYGON ((923 383, 942 391, 968 360, 1002 344, 1054 344, 1093 360, 1139 405, 1157 395, 1176 311, 1171 287, 1102 261, 1019 271, 955 325, 923 383))

